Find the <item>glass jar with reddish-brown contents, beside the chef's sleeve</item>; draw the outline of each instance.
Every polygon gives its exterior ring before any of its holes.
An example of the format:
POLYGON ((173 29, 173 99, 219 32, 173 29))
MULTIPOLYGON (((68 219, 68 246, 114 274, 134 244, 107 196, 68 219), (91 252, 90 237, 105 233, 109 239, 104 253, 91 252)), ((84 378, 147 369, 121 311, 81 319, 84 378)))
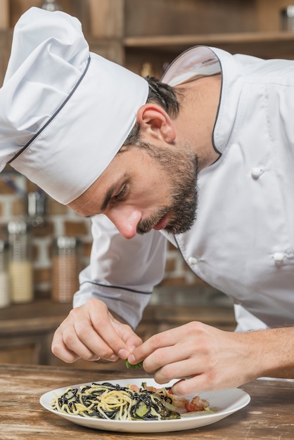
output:
POLYGON ((76 237, 60 236, 53 240, 52 299, 72 302, 79 290, 81 242, 76 237))

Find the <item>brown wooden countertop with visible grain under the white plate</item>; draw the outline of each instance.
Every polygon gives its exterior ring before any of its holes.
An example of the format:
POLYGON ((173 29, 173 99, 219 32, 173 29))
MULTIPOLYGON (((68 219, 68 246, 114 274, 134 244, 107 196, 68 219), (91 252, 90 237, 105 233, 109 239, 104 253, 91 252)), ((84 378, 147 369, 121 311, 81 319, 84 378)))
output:
MULTIPOLYGON (((219 422, 188 431, 162 434, 103 432, 80 427, 41 407, 39 398, 58 387, 95 380, 141 377, 139 370, 109 372, 43 365, 0 365, 0 438, 3 440, 293 440, 294 382, 256 380, 241 387, 248 406, 219 422)), ((145 375, 143 375, 145 376, 145 375)), ((147 376, 146 376, 147 377, 147 376)))

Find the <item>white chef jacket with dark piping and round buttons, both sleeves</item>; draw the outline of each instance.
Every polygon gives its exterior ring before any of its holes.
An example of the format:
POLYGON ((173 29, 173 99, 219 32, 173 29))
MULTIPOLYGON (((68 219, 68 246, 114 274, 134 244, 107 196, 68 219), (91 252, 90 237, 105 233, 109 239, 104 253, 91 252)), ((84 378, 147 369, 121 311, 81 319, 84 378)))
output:
POLYGON ((294 324, 294 61, 196 46, 162 80, 219 71, 212 142, 221 156, 200 172, 191 231, 125 240, 106 216, 94 216, 91 263, 74 306, 98 297, 135 328, 170 240, 197 276, 234 299, 238 330, 294 324))

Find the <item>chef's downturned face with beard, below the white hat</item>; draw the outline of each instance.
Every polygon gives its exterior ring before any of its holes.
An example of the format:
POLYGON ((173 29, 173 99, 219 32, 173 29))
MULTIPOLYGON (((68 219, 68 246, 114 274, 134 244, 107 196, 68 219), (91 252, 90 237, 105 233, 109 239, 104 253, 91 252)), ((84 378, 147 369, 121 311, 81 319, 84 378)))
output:
POLYGON ((188 145, 129 147, 69 206, 78 214, 106 214, 124 238, 151 229, 188 231, 196 219, 198 161, 188 145))

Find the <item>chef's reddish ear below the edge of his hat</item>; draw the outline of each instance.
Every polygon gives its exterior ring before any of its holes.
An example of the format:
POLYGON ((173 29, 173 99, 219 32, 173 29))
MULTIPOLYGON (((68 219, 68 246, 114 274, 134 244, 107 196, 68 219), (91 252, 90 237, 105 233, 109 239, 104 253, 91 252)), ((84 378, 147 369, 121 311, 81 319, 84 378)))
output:
POLYGON ((139 108, 136 116, 142 135, 146 134, 167 143, 172 143, 176 138, 172 120, 160 105, 144 104, 139 108))

